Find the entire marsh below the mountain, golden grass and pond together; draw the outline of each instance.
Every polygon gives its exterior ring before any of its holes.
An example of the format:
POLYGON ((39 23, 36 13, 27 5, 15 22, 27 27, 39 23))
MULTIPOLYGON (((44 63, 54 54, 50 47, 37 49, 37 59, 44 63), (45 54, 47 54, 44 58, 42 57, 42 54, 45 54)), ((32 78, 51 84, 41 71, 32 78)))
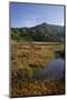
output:
POLYGON ((63 43, 12 42, 11 96, 65 93, 63 50, 63 43))

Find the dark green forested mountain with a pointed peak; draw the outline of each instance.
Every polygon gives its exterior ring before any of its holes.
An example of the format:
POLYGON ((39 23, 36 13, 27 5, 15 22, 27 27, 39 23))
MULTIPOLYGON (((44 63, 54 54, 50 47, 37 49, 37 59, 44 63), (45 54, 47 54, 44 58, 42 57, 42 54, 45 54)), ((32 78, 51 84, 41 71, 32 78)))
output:
POLYGON ((11 28, 11 39, 20 41, 63 42, 64 27, 42 23, 32 28, 11 28))

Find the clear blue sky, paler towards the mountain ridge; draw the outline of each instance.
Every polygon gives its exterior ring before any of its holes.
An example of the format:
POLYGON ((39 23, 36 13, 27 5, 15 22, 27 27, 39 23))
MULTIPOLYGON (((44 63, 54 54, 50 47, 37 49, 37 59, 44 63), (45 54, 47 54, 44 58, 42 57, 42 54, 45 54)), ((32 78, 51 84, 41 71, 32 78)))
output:
POLYGON ((34 27, 43 22, 64 26, 64 7, 34 3, 10 3, 11 27, 34 27))

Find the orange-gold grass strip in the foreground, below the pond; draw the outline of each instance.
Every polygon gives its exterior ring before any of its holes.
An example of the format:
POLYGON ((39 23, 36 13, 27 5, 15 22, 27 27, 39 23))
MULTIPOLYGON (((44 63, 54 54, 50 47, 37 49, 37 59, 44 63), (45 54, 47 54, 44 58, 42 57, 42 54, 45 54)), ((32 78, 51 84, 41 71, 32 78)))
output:
POLYGON ((21 80, 13 84, 12 97, 63 94, 65 93, 63 80, 21 80))

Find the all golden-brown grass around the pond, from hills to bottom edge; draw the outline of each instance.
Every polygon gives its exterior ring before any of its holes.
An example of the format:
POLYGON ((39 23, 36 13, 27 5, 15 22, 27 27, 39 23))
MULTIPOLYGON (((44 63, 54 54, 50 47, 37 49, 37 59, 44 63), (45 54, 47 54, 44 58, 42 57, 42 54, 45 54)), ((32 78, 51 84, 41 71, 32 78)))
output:
POLYGON ((30 79, 41 67, 45 68, 59 42, 11 42, 11 97, 64 93, 64 81, 30 79))

